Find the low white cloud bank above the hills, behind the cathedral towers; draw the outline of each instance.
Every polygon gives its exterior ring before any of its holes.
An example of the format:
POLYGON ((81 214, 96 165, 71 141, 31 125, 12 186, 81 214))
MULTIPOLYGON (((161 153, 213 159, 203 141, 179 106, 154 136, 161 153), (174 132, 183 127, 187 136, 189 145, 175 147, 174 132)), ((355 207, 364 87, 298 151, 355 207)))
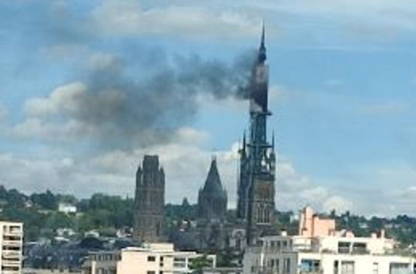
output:
MULTIPOLYGON (((235 207, 239 144, 212 152, 200 147, 209 138, 205 132, 181 128, 176 135, 183 139, 136 150, 116 149, 90 158, 64 155, 59 159, 40 160, 3 154, 0 155, 0 180, 25 192, 49 188, 79 197, 88 197, 95 192, 132 197, 137 166, 144 155, 156 154, 160 156, 166 174, 166 201, 179 203, 188 197, 196 202, 210 160, 215 155, 222 182, 228 191, 229 206, 235 207)), ((345 197, 311 183, 306 176, 299 175, 290 162, 277 163, 276 184, 279 210, 297 210, 306 204, 325 211, 351 209, 352 203, 345 197)))

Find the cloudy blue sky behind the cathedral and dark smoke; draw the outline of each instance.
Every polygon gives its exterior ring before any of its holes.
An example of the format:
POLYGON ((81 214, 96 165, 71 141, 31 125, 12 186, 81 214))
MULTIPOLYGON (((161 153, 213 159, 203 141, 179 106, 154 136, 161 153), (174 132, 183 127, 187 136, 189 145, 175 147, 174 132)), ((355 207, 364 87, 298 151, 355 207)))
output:
MULTIPOLYGON (((264 19, 278 209, 412 214, 415 18, 407 0, 0 1, 0 182, 25 192, 132 196, 142 155, 158 153, 167 200, 196 201, 215 153, 234 206, 247 102, 204 92, 184 98, 179 89, 155 105, 164 116, 152 127, 152 115, 139 115, 126 128, 101 119, 114 106, 107 100, 123 102, 122 90, 106 97, 99 89, 112 78, 143 87, 177 56, 185 58, 180 71, 192 71, 195 56, 230 66, 258 46, 264 19), (149 142, 154 126, 164 132, 149 142)), ((128 105, 140 111, 140 100, 128 105)))

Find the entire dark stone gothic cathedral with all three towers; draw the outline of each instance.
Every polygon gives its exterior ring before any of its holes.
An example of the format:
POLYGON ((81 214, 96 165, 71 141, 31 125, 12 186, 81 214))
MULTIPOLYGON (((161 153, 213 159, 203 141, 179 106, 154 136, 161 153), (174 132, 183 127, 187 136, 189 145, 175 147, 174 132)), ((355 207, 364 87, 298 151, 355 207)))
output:
MULTIPOLYGON (((180 220, 169 227, 169 240, 181 250, 227 250, 241 254, 246 245, 272 234, 275 226, 276 155, 274 137, 268 140, 269 66, 264 26, 250 84, 250 128, 239 150, 236 220, 227 219, 227 192, 212 159, 198 193, 195 220, 180 220)), ((134 239, 161 242, 165 238, 165 175, 158 156, 145 156, 136 177, 134 239)), ((230 217, 230 216, 228 216, 230 217)))

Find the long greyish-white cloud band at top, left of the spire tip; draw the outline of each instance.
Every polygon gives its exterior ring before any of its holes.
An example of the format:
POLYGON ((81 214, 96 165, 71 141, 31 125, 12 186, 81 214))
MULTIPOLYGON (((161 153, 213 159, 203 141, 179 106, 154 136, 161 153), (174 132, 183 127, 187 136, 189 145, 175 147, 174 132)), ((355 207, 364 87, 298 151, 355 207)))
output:
POLYGON ((107 0, 92 13, 111 34, 167 34, 188 37, 240 38, 258 35, 259 18, 231 10, 167 5, 144 9, 139 1, 107 0))

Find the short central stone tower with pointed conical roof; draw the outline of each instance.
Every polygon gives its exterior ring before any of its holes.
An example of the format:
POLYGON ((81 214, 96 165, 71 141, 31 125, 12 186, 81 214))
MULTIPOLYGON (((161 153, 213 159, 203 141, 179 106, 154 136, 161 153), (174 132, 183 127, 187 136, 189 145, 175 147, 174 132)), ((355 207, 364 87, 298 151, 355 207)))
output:
POLYGON ((208 222, 223 221, 227 212, 227 191, 221 184, 216 159, 212 159, 207 180, 198 195, 198 213, 208 222))

